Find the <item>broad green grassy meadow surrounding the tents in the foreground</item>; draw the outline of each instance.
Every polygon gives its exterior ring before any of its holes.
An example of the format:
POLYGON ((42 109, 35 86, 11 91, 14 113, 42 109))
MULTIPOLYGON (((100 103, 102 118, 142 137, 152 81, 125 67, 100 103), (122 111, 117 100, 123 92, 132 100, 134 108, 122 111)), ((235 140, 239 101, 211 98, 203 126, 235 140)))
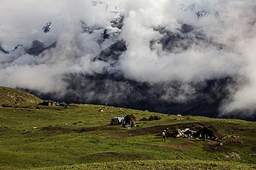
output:
POLYGON ((120 108, 96 105, 0 108, 0 169, 254 169, 256 125, 237 119, 124 109, 139 127, 109 125, 120 108), (103 111, 99 111, 102 109, 103 111), (214 125, 220 141, 167 138, 166 127, 214 125), (222 143, 222 144, 220 144, 222 143))

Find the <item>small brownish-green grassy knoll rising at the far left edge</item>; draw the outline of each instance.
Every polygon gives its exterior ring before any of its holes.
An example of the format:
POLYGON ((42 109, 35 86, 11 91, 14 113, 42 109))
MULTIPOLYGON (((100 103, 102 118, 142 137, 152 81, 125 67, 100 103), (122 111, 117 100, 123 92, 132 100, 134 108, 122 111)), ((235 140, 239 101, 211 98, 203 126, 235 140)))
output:
POLYGON ((0 106, 2 106, 2 104, 18 106, 20 104, 39 103, 40 101, 39 97, 27 93, 26 91, 0 87, 0 106))

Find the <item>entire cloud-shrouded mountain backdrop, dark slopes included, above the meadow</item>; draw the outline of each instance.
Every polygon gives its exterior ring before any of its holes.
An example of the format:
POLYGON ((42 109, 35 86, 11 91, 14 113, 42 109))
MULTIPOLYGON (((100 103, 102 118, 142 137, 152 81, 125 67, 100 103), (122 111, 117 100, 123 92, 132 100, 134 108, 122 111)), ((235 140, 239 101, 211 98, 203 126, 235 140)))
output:
POLYGON ((201 99, 215 116, 256 116, 253 0, 0 2, 1 86, 166 113, 201 99))

